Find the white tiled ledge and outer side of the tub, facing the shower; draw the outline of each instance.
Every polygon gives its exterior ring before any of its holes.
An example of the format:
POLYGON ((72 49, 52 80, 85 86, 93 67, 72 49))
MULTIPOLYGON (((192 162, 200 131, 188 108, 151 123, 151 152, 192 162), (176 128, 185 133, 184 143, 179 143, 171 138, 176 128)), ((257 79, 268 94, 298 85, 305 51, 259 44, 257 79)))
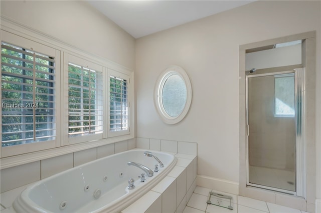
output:
POLYGON ((178 159, 172 171, 145 195, 121 211, 183 212, 196 187, 196 155, 176 154, 178 159))

